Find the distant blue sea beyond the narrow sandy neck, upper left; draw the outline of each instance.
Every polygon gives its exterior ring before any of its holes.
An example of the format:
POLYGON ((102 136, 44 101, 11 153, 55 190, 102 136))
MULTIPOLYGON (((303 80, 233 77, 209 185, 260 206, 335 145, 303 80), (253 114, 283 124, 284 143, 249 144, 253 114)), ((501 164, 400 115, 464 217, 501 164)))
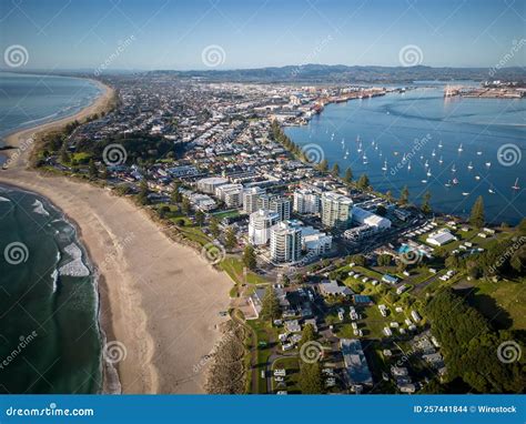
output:
POLYGON ((74 114, 100 94, 85 79, 0 72, 0 138, 74 114))

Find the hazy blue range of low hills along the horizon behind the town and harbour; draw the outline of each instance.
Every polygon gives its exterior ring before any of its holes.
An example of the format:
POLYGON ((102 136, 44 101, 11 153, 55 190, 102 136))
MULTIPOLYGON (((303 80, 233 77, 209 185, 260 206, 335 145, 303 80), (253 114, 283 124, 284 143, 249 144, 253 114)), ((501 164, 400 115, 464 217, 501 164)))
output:
POLYGON ((212 81, 242 82, 365 82, 411 83, 428 80, 505 80, 526 81, 526 70, 520 67, 503 68, 431 68, 416 67, 347 67, 344 64, 304 64, 281 68, 204 71, 152 71, 153 74, 174 74, 181 78, 202 78, 212 81))

